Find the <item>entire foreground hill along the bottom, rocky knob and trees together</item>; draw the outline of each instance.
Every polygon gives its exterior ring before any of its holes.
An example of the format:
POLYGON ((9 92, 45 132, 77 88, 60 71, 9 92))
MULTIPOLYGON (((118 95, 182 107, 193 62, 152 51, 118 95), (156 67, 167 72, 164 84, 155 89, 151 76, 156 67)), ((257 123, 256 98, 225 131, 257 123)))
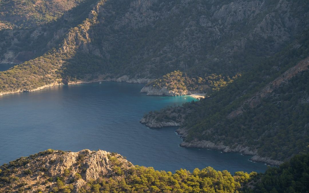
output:
POLYGON ((0 166, 1 192, 307 192, 308 153, 265 174, 211 167, 175 173, 133 166, 117 153, 48 149, 0 166))

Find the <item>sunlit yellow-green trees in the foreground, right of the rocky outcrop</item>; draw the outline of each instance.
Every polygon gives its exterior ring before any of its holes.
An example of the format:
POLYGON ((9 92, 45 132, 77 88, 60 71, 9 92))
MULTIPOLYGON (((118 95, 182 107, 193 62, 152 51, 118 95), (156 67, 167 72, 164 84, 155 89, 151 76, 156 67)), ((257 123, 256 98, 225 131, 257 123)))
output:
MULTIPOLYGON (((247 174, 247 179, 255 173, 247 174)), ((121 180, 99 178, 79 190, 88 192, 238 192, 241 176, 232 176, 228 171, 216 171, 211 167, 171 172, 157 171, 152 167, 134 166, 121 180)), ((245 181, 245 180, 243 180, 245 181)))

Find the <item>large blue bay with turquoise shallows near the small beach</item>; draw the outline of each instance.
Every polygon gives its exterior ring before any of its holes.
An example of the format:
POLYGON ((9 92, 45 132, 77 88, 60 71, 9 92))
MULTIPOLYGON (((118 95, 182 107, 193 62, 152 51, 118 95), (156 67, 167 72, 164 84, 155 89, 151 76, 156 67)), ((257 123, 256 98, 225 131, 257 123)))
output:
POLYGON ((134 165, 174 172, 184 168, 264 172, 250 156, 179 146, 176 128, 150 129, 144 113, 192 101, 190 96, 146 96, 142 84, 103 82, 55 86, 0 97, 0 164, 46 149, 107 150, 134 165))

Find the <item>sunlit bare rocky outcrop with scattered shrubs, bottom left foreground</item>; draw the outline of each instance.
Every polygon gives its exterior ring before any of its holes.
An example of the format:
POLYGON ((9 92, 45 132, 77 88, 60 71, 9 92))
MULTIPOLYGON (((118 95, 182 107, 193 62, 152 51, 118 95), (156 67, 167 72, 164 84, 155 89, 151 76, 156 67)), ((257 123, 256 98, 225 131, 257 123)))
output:
POLYGON ((121 170, 126 171, 133 166, 121 155, 102 150, 47 150, 21 157, 0 167, 0 191, 53 192, 57 188, 59 192, 78 192, 80 187, 99 177, 119 178, 115 170, 115 159, 121 165, 121 170))

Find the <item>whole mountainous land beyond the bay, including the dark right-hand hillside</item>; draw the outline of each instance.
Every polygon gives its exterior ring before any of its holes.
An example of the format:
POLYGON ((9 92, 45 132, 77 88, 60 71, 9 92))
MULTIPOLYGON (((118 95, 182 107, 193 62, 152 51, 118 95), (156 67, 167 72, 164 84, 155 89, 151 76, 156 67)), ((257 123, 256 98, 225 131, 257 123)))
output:
POLYGON ((0 10, 0 62, 19 64, 0 72, 0 95, 107 80, 203 92, 141 122, 180 126, 185 147, 272 165, 309 145, 306 0, 6 0, 0 10))

